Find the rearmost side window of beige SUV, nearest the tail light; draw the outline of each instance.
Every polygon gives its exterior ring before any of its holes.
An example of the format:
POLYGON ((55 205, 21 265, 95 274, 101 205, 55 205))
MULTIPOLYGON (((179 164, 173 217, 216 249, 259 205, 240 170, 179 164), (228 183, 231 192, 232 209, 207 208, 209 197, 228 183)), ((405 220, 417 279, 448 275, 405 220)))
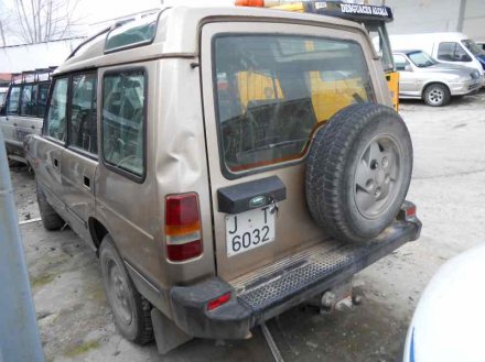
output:
POLYGON ((144 175, 146 74, 109 73, 103 79, 103 155, 105 162, 144 175))

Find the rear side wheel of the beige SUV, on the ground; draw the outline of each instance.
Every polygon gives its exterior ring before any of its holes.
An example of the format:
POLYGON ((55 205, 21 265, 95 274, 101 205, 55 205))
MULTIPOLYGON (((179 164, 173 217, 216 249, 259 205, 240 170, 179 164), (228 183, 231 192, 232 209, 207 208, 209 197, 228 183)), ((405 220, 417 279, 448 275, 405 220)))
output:
POLYGON ((136 289, 109 234, 99 250, 101 275, 115 323, 128 340, 144 344, 153 339, 151 305, 136 289))

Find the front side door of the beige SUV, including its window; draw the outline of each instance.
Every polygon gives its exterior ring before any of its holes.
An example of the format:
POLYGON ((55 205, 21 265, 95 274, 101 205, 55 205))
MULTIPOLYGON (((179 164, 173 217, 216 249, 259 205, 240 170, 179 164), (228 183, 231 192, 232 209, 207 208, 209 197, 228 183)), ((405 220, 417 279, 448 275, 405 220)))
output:
POLYGON ((39 158, 36 179, 42 184, 48 202, 66 219, 64 185, 61 176, 62 157, 67 140, 67 91, 68 76, 53 80, 48 109, 43 129, 43 142, 36 143, 39 158))

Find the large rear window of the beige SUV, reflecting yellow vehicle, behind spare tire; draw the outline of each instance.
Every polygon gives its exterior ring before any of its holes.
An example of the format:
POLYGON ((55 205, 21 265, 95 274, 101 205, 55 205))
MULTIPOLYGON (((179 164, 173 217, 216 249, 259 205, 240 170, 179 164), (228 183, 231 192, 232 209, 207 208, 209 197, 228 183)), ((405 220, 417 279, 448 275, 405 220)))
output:
POLYGON ((364 53, 352 41, 222 34, 213 47, 219 142, 230 174, 303 157, 321 123, 374 100, 364 53))

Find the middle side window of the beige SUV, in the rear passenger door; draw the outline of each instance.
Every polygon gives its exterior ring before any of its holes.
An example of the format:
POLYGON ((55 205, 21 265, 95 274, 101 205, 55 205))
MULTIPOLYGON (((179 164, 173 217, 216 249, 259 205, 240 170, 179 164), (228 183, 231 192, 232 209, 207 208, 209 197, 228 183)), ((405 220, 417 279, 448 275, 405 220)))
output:
POLYGON ((97 153, 96 74, 73 76, 69 144, 97 153))

